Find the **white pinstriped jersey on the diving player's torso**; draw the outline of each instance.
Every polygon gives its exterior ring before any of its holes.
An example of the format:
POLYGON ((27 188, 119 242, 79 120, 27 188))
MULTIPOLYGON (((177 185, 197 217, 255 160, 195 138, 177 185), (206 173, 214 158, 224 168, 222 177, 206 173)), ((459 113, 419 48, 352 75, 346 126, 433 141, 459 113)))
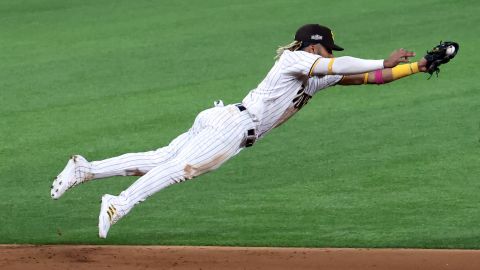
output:
POLYGON ((292 117, 316 92, 342 79, 342 75, 310 77, 312 66, 320 57, 286 50, 265 79, 243 99, 257 124, 259 138, 292 117))

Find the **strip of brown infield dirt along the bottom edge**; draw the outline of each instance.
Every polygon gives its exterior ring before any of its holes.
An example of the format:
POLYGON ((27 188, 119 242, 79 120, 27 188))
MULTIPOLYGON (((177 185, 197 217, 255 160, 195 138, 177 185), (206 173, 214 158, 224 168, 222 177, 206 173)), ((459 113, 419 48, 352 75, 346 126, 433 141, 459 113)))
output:
POLYGON ((0 269, 479 269, 478 250, 0 245, 0 269))

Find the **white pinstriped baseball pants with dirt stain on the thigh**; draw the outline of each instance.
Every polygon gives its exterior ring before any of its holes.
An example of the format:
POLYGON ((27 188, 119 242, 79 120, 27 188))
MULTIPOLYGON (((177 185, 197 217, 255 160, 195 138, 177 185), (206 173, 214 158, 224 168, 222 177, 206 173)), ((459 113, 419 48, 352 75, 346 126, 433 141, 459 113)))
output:
POLYGON ((248 111, 235 105, 202 111, 190 130, 168 146, 144 153, 93 161, 93 179, 143 175, 120 193, 125 214, 156 192, 215 170, 244 147, 254 123, 248 111))

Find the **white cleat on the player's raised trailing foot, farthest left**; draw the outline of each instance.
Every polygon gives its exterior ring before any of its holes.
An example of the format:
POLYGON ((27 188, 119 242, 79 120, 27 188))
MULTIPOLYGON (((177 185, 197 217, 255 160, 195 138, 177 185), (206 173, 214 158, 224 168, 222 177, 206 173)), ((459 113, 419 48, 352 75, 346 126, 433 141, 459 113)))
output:
POLYGON ((90 163, 80 155, 74 155, 67 162, 65 169, 53 180, 50 196, 60 198, 65 191, 93 178, 90 163))

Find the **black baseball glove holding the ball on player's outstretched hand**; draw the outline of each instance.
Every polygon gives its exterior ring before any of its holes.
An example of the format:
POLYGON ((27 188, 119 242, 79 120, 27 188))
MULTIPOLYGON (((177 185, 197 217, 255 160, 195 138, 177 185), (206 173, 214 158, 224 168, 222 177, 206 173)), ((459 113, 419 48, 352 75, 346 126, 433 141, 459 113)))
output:
MULTIPOLYGON (((430 78, 432 77, 433 73, 438 77, 438 73, 440 73, 439 66, 442 64, 446 64, 457 55, 458 49, 460 45, 453 41, 440 41, 440 44, 433 47, 431 51, 428 51, 425 55, 425 59, 427 60, 427 72, 430 73, 430 78)), ((429 78, 429 79, 430 79, 429 78)))

